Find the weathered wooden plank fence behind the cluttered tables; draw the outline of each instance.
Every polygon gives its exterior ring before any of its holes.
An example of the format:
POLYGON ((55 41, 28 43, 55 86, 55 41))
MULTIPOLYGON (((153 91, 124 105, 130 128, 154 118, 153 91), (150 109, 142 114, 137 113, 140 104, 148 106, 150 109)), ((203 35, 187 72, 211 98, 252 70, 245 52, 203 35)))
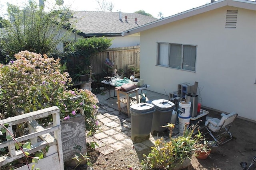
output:
POLYGON ((97 53, 91 57, 90 63, 93 66, 94 74, 102 74, 104 72, 111 72, 116 68, 123 69, 127 72, 127 65, 134 64, 135 67, 140 68, 140 46, 120 47, 107 49, 104 52, 97 53), (108 68, 104 61, 110 59, 114 62, 112 69, 108 68))

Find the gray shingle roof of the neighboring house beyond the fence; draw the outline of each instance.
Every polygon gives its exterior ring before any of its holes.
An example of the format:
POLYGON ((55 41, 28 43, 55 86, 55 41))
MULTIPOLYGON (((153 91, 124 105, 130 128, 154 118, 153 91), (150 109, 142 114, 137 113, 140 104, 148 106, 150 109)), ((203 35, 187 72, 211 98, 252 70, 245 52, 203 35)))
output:
POLYGON ((124 30, 158 20, 141 14, 121 12, 72 11, 72 15, 73 20, 76 20, 74 28, 83 37, 121 36, 124 30))

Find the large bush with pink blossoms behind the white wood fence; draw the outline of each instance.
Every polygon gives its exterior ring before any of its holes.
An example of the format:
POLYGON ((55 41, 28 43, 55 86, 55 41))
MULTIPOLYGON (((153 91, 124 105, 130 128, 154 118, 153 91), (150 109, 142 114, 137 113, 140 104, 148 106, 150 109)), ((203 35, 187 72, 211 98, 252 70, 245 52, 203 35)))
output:
MULTIPOLYGON (((86 129, 95 131, 98 99, 89 90, 67 90, 72 79, 68 72, 60 71, 60 59, 29 51, 21 51, 15 57, 16 61, 0 65, 1 119, 20 114, 19 109, 28 113, 58 106, 60 118, 67 120, 83 108, 86 129), (80 98, 72 100, 76 96, 80 98)), ((52 119, 40 121, 48 125, 52 119)))

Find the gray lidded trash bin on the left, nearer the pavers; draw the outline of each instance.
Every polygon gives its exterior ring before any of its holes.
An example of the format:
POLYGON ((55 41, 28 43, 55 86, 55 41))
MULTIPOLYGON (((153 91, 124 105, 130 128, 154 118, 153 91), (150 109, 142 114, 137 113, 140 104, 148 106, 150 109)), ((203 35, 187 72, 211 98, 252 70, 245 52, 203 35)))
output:
POLYGON ((138 103, 130 106, 131 113, 131 139, 141 142, 150 137, 154 105, 138 103))

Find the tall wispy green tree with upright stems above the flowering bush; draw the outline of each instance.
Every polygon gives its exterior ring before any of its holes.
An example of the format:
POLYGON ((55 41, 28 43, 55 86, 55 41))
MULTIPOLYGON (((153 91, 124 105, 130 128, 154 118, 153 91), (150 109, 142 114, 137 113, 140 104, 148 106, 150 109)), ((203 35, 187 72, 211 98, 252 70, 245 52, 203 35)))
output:
POLYGON ((68 35, 63 29, 70 27, 71 12, 68 9, 58 6, 57 10, 45 12, 43 5, 38 6, 32 0, 23 9, 9 3, 7 6, 9 20, 1 20, 5 29, 1 48, 12 60, 19 51, 53 53, 68 35))

